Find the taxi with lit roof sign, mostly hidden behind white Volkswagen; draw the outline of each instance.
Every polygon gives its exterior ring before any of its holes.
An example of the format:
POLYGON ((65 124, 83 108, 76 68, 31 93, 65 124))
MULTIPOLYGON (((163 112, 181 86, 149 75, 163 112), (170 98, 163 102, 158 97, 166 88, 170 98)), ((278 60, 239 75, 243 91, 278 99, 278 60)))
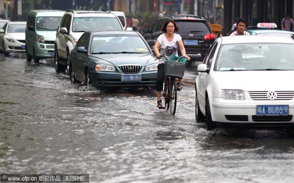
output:
POLYGON ((294 32, 275 29, 275 23, 257 23, 256 26, 248 26, 246 31, 254 36, 288 36, 294 38, 294 32))

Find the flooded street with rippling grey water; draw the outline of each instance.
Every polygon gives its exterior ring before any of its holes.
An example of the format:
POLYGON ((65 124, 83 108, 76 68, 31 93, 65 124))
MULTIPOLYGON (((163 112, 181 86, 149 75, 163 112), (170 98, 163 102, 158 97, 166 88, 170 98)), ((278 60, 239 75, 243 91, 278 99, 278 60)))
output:
MULTIPOLYGON (((189 68, 192 79, 196 67, 189 68)), ((195 75, 196 77, 196 75, 195 75)), ((195 78, 194 77, 194 78, 195 78)), ((176 114, 153 90, 98 91, 53 60, 0 55, 0 174, 90 174, 90 183, 294 183, 294 138, 277 130, 206 131, 195 88, 176 114)))

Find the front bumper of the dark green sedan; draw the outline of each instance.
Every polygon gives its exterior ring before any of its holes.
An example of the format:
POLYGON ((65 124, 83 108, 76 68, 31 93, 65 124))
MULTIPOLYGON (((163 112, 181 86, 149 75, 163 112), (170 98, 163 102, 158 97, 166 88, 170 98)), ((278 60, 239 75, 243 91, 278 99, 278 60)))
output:
POLYGON ((122 73, 119 72, 91 70, 89 74, 92 86, 101 88, 155 88, 157 79, 157 71, 139 73, 141 74, 142 80, 136 82, 122 82, 122 73))

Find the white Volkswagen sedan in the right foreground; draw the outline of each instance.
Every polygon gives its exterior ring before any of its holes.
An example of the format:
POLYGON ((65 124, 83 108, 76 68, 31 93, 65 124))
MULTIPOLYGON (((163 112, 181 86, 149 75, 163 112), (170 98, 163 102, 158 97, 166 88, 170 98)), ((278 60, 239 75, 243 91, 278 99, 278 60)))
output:
POLYGON ((217 127, 294 127, 294 40, 218 38, 198 65, 196 122, 217 127))

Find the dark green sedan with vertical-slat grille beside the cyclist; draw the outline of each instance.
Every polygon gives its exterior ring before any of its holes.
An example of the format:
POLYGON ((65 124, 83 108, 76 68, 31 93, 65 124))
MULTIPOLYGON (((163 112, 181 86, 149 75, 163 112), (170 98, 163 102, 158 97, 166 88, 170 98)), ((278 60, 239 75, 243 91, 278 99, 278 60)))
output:
POLYGON ((71 83, 98 88, 155 88, 155 59, 136 31, 85 32, 71 53, 71 83))

